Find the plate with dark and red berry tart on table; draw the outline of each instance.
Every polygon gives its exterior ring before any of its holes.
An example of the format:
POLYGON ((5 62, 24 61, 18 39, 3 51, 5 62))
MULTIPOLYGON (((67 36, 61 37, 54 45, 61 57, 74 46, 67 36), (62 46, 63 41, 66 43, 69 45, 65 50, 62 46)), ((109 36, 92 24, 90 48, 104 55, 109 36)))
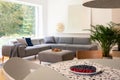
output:
POLYGON ((70 70, 75 74, 82 74, 82 75, 92 75, 101 72, 101 69, 97 69, 96 67, 90 65, 75 65, 75 66, 71 66, 70 70))

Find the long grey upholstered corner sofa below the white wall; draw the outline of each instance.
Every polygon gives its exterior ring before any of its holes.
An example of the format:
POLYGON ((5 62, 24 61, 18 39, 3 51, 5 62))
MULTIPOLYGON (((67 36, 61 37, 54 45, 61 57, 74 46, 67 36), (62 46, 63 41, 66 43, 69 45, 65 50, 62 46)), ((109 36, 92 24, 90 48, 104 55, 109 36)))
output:
MULTIPOLYGON (((16 54, 19 57, 27 57, 32 55, 37 55, 38 52, 51 49, 60 48, 64 50, 71 50, 75 52, 76 50, 97 50, 97 45, 91 43, 88 37, 55 37, 49 36, 44 39, 31 39, 33 46, 27 46, 26 44, 20 44, 17 47, 16 54)), ((17 42, 19 43, 19 42, 17 42)), ((15 48, 15 45, 3 45, 2 55, 10 56, 11 50, 15 48)), ((13 55, 16 56, 16 55, 13 55)))

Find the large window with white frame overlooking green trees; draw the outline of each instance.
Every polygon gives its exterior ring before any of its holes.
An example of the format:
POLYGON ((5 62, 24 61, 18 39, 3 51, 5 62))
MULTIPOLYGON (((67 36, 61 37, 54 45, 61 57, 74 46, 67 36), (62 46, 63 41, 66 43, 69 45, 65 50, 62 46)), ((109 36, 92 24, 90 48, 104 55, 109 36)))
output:
POLYGON ((19 37, 35 37, 40 9, 35 5, 0 1, 0 48, 19 37))

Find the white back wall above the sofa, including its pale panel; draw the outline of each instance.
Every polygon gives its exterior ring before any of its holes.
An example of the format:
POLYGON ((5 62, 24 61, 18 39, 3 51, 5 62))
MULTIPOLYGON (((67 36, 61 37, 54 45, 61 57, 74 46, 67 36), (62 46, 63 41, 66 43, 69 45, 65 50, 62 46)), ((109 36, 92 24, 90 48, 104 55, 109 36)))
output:
MULTIPOLYGON (((81 6, 82 2, 85 2, 85 0, 23 0, 23 1, 43 6, 43 35, 55 33, 56 25, 59 22, 64 24, 65 26, 64 32, 67 33, 80 33, 81 26, 83 28, 87 28, 91 23, 90 21, 91 14, 89 11, 90 8, 78 7, 79 5, 81 6), (77 8, 79 10, 77 10, 77 8), (73 11, 72 14, 69 13, 71 11, 73 11)), ((92 9, 92 11, 93 11, 92 24, 94 25, 107 24, 108 22, 112 21, 111 10, 92 9)))

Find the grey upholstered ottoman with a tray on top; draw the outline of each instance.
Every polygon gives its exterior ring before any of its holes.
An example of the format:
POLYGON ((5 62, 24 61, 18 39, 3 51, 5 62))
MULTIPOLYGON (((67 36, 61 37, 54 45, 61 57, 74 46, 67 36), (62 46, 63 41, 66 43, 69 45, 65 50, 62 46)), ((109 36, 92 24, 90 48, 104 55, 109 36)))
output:
POLYGON ((71 60, 74 58, 74 54, 70 50, 62 50, 60 52, 54 52, 51 49, 44 50, 39 52, 38 58, 41 61, 44 62, 59 62, 59 61, 65 61, 65 60, 71 60))

